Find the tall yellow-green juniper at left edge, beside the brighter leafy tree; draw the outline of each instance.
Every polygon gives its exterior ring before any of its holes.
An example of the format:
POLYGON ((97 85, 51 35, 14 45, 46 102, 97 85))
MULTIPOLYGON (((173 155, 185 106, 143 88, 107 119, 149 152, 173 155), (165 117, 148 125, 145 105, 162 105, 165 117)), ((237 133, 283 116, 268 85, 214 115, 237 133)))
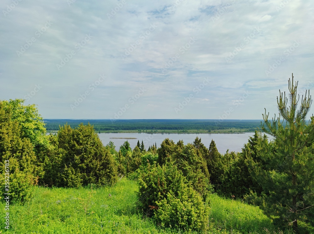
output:
POLYGON ((11 109, 4 107, 0 101, 0 189, 6 193, 5 181, 9 181, 10 201, 27 201, 42 168, 36 166, 33 145, 22 138, 21 126, 12 120, 11 109))

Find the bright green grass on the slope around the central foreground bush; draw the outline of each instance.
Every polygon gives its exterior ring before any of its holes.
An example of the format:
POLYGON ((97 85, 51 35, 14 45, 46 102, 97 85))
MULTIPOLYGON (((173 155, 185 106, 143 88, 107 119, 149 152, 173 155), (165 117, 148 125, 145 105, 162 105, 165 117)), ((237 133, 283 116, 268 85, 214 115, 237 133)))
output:
MULTIPOLYGON (((137 183, 126 178, 111 188, 37 187, 30 202, 10 205, 9 231, 4 229, 2 208, 0 233, 178 233, 143 219, 135 205, 136 191, 137 183)), ((267 233, 264 227, 275 230, 257 207, 215 194, 210 195, 209 202, 207 233, 267 233)))

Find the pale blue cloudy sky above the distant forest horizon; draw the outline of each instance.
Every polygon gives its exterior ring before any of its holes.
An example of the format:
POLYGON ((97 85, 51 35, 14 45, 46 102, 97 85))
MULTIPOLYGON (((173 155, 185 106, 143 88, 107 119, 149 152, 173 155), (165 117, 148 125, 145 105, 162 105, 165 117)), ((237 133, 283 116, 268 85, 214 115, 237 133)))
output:
MULTIPOLYGON (((262 119, 314 89, 314 2, 0 2, 0 100, 44 119, 262 119)), ((314 113, 313 109, 310 113, 314 113)))

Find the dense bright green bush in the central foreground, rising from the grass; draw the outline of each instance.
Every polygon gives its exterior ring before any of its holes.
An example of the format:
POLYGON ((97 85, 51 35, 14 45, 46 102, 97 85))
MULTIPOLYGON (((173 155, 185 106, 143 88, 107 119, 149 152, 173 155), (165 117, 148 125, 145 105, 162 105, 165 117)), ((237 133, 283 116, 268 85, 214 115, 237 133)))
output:
POLYGON ((208 223, 208 207, 173 163, 150 165, 138 178, 139 206, 160 226, 201 231, 208 223))

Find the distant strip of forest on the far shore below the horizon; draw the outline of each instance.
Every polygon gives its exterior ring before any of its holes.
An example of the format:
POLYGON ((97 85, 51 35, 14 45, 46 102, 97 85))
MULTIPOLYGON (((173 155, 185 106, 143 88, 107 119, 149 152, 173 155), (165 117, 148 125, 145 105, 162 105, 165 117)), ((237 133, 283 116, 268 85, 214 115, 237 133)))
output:
POLYGON ((261 120, 67 120, 45 119, 46 129, 59 130, 65 124, 78 126, 83 123, 94 125, 95 131, 118 130, 225 130, 243 129, 254 132, 261 120))

